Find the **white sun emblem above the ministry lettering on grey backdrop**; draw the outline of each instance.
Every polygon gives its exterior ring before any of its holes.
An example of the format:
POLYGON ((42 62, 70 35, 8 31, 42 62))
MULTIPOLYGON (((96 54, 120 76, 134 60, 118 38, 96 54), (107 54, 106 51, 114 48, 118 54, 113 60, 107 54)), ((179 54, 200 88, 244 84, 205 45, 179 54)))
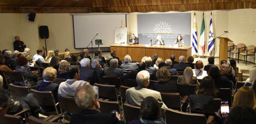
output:
POLYGON ((155 24, 156 27, 154 27, 155 33, 170 33, 172 32, 170 25, 168 23, 162 21, 157 24, 155 24))

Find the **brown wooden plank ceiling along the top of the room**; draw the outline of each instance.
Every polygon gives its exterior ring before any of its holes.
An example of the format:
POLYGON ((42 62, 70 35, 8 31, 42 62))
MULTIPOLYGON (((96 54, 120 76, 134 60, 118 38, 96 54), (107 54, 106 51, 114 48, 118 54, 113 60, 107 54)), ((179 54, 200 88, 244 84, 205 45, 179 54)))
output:
POLYGON ((166 12, 256 9, 256 0, 0 0, 1 13, 166 12))

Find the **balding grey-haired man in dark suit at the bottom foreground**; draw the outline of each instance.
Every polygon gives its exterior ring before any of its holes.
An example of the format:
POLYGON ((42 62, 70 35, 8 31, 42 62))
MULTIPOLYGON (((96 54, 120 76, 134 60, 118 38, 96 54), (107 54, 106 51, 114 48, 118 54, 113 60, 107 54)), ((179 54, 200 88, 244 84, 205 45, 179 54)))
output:
POLYGON ((84 85, 75 91, 76 104, 81 112, 71 116, 71 124, 125 124, 121 121, 120 114, 101 113, 97 93, 91 85, 84 85))

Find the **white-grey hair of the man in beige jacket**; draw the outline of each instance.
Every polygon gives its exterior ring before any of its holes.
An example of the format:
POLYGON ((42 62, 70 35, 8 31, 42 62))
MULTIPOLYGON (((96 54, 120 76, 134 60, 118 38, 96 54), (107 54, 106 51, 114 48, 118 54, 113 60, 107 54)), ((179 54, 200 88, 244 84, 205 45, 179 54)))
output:
POLYGON ((136 81, 139 86, 145 86, 145 84, 148 83, 149 77, 150 77, 149 72, 146 70, 143 70, 137 74, 136 81))

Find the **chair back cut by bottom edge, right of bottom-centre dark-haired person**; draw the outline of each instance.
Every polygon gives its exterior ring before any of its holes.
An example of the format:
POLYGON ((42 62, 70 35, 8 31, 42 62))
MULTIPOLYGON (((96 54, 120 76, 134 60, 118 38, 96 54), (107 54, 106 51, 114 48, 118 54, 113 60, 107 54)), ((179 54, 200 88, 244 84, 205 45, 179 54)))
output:
POLYGON ((206 124, 206 117, 204 114, 186 113, 167 108, 165 122, 166 124, 206 124))

